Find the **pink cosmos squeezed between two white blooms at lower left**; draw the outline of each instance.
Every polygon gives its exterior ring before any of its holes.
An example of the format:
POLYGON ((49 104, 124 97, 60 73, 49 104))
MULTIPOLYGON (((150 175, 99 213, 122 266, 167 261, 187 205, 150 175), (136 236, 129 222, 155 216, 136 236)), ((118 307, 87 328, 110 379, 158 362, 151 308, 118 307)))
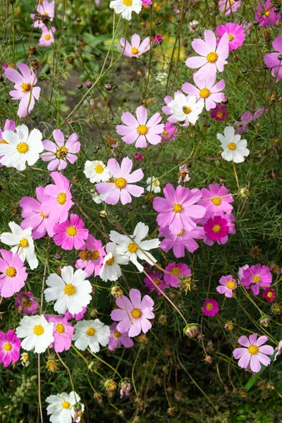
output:
POLYGON ((51 343, 50 348, 54 347, 56 353, 62 353, 68 351, 71 348, 71 340, 73 339, 73 326, 65 317, 51 316, 51 314, 45 314, 44 317, 47 321, 52 321, 54 343, 51 343))

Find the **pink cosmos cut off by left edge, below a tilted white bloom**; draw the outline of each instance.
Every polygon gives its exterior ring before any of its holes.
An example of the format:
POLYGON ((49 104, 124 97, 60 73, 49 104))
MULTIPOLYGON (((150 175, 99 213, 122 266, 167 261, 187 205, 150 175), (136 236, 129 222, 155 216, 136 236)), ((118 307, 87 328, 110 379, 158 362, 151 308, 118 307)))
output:
POLYGON ((17 253, 0 250, 0 254, 0 293, 1 297, 9 298, 25 286, 26 267, 17 253))

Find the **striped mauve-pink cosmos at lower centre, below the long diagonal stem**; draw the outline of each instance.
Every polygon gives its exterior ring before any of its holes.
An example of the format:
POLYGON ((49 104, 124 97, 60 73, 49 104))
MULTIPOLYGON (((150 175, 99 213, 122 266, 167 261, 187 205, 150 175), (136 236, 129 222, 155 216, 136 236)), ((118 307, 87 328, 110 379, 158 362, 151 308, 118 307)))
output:
POLYGON ((130 300, 123 295, 116 299, 118 309, 111 312, 111 319, 119 321, 116 329, 121 333, 128 331, 128 336, 139 335, 142 331, 147 333, 152 328, 149 319, 154 319, 154 301, 149 295, 145 295, 141 300, 140 291, 130 289, 130 300))

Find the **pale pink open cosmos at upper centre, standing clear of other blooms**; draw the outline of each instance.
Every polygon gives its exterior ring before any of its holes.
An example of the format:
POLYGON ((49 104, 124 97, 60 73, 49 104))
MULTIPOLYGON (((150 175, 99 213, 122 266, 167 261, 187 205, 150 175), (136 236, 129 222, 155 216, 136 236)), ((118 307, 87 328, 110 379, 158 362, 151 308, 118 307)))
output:
POLYGON ((122 139, 126 144, 133 144, 136 141, 135 147, 146 147, 147 142, 152 145, 157 145, 161 142, 161 133, 164 132, 164 125, 160 123, 161 115, 156 113, 147 121, 147 109, 139 106, 136 109, 137 119, 125 111, 121 116, 121 121, 125 125, 117 125, 116 132, 118 135, 123 135, 122 139))

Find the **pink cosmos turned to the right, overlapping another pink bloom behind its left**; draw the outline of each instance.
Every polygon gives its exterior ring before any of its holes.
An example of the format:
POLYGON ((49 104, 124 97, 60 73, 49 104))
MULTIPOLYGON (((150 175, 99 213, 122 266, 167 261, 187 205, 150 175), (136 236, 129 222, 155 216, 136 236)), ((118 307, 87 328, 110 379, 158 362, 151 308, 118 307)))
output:
POLYGON ((42 209, 49 216, 50 221, 63 223, 68 219, 68 210, 74 204, 71 200, 70 181, 60 172, 52 172, 50 176, 55 185, 50 184, 44 188, 44 195, 47 195, 49 199, 42 203, 42 209))

